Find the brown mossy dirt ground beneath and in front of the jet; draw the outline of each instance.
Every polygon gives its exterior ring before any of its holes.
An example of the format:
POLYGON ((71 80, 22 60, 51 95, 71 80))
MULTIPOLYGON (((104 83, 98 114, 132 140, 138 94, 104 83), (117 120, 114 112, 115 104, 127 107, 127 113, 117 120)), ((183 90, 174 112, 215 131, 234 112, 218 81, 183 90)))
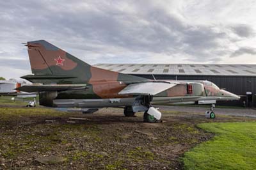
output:
POLYGON ((182 169, 183 153, 213 136, 196 124, 255 120, 223 115, 210 120, 203 113, 163 111, 162 123, 143 123, 142 112, 129 118, 122 112, 2 106, 0 169, 182 169), (42 158, 52 160, 40 163, 42 158))

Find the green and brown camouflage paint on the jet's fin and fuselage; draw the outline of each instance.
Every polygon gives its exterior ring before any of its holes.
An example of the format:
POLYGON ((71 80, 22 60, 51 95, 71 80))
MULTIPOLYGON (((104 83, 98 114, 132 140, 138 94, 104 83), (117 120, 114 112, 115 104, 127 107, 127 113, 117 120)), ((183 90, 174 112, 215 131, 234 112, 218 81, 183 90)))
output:
MULTIPOLYGON (((86 84, 88 86, 88 89, 83 90, 60 91, 56 99, 132 97, 118 95, 118 92, 128 84, 151 81, 91 66, 44 40, 28 42, 26 46, 28 46, 33 75, 22 78, 43 84, 86 84)), ((200 83, 193 84, 192 94, 188 94, 187 84, 178 84, 157 94, 156 97, 221 96, 218 87, 204 81, 200 83)))

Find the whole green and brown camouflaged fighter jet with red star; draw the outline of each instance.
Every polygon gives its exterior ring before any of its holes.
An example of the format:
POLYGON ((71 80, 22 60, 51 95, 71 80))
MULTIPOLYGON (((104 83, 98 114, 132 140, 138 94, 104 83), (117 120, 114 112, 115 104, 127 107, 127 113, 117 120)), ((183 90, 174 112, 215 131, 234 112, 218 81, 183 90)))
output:
POLYGON ((124 107, 125 116, 143 111, 144 121, 154 123, 161 112, 152 104, 239 99, 209 81, 152 81, 91 66, 44 40, 26 46, 33 75, 21 78, 34 84, 17 89, 39 92, 40 105, 48 107, 124 107))

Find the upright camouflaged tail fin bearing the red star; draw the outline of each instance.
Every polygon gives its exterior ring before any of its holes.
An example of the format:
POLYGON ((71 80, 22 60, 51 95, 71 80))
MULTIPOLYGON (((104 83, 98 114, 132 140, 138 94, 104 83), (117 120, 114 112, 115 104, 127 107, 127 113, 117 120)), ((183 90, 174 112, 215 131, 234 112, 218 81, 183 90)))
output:
POLYGON ((70 75, 77 66, 90 66, 45 40, 28 42, 26 46, 35 75, 70 75))

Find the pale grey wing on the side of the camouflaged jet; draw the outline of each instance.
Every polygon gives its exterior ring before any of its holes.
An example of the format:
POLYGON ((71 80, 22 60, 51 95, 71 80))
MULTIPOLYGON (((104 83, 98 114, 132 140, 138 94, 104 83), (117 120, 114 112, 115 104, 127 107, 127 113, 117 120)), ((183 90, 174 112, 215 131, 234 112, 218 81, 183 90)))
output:
POLYGON ((162 91, 172 88, 176 84, 170 82, 140 82, 129 84, 122 89, 119 95, 156 95, 162 91))

